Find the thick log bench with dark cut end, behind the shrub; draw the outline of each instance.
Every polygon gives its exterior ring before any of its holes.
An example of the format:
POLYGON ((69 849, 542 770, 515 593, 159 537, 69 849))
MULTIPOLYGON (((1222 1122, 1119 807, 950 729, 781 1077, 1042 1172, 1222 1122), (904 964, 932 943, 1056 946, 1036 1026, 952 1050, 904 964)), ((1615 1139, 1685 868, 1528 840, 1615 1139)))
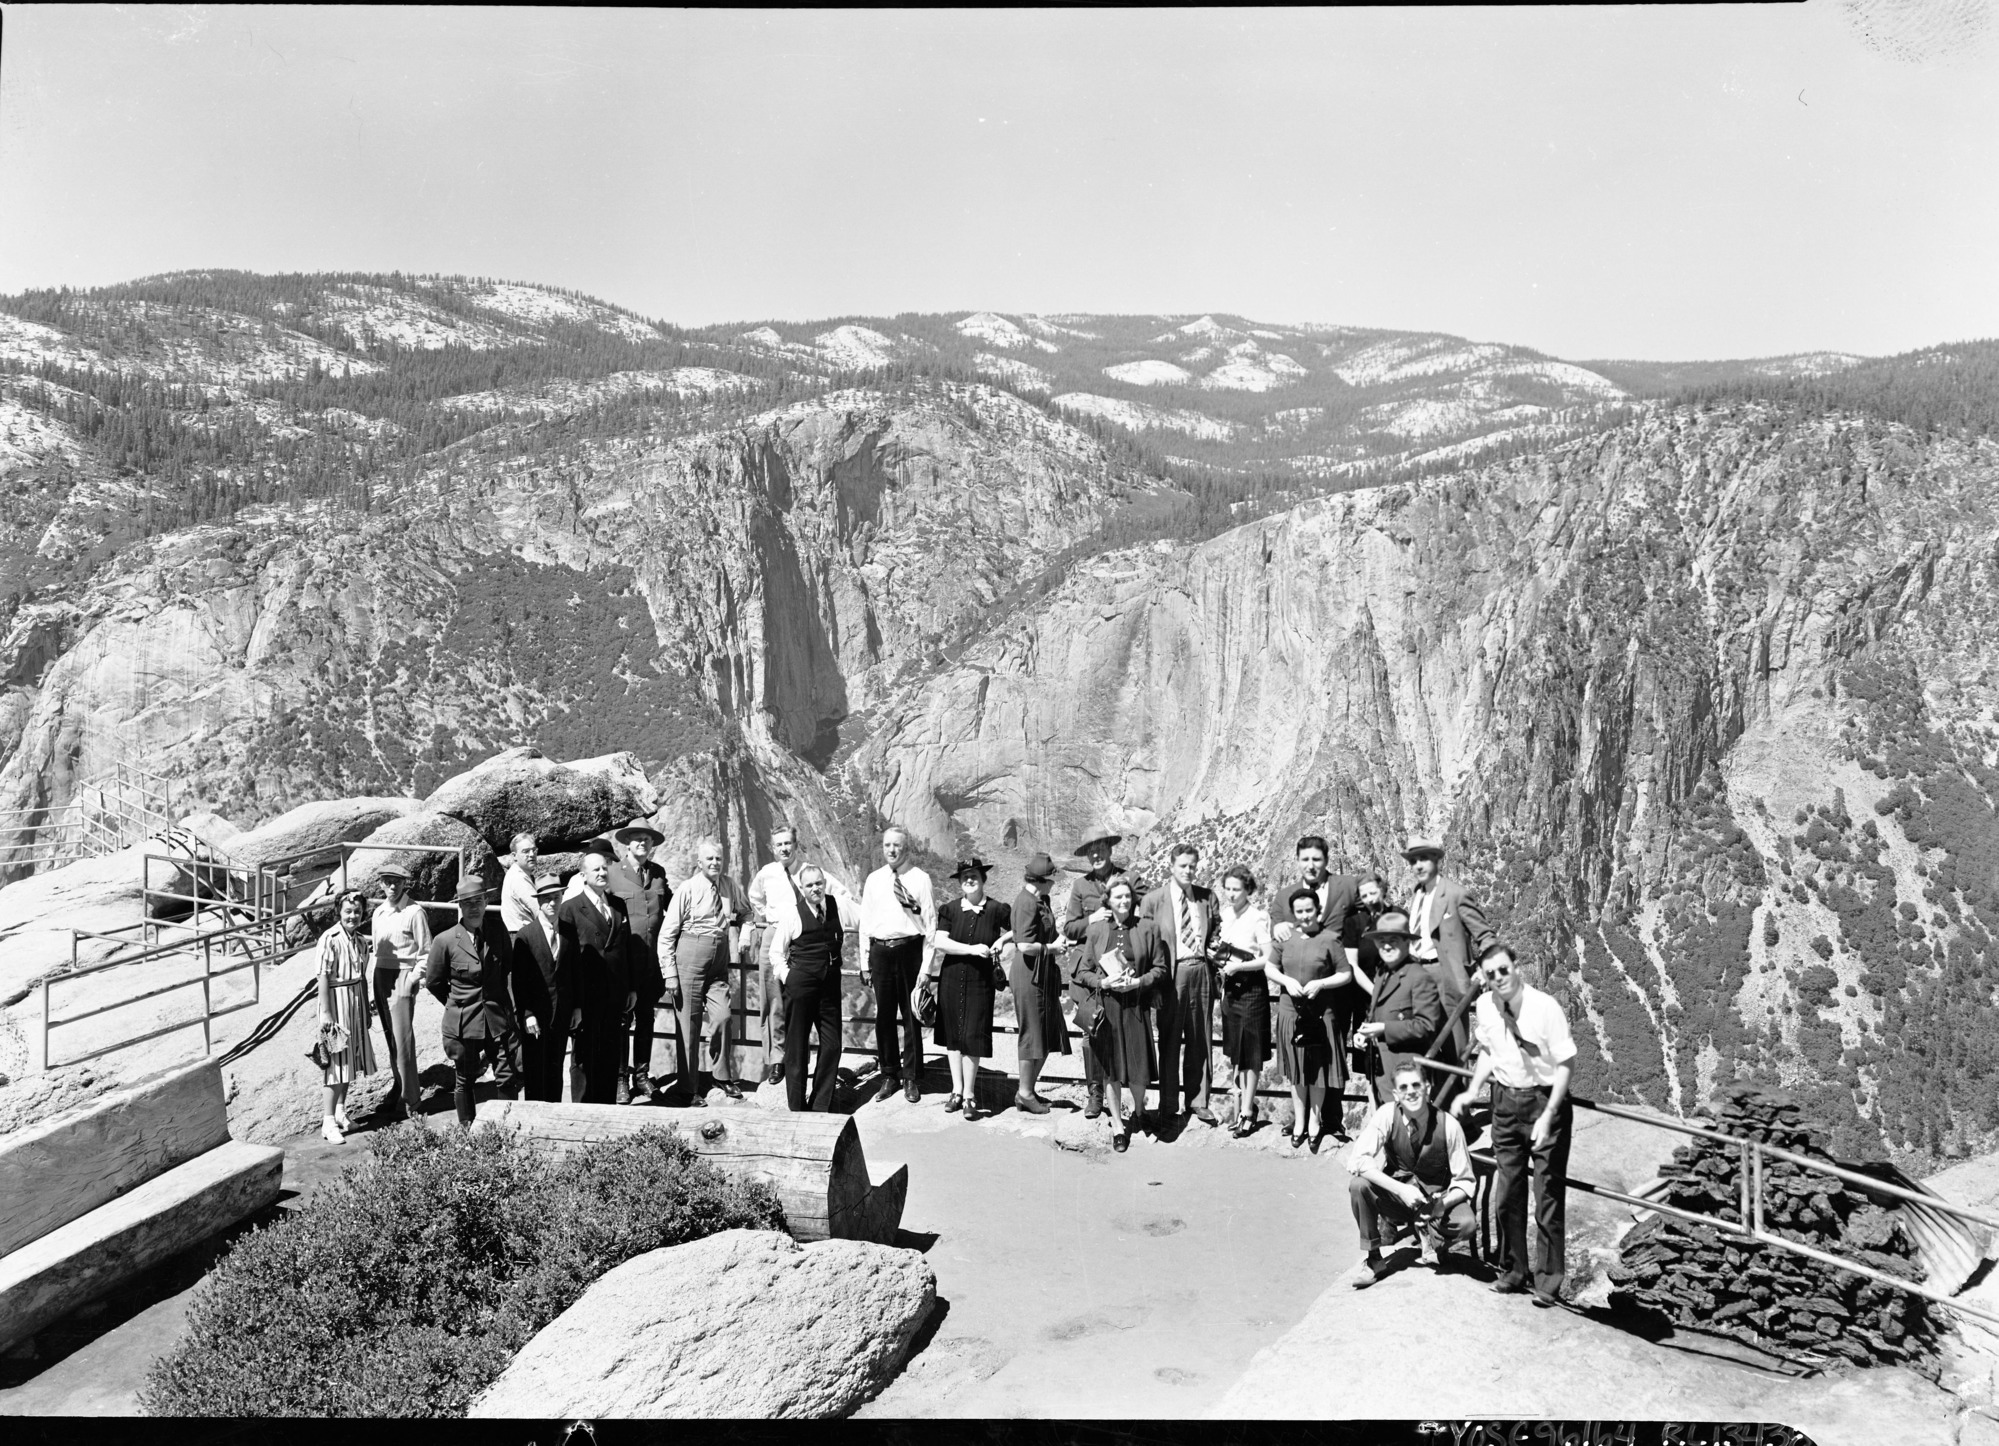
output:
POLYGON ((852 1116, 772 1110, 690 1114, 620 1104, 494 1100, 480 1106, 480 1128, 510 1126, 568 1152, 592 1140, 638 1134, 646 1126, 670 1126, 718 1170, 770 1184, 796 1240, 896 1242, 910 1168, 876 1162, 870 1170, 852 1116))

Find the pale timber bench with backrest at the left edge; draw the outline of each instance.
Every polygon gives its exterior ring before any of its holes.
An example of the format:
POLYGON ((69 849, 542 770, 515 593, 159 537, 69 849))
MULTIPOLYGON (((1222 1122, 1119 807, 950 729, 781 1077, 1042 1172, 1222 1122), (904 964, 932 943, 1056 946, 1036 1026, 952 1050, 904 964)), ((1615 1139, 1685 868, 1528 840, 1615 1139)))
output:
POLYGON ((210 1062, 0 1138, 0 1350, 256 1214, 282 1174, 284 1150, 230 1140, 210 1062))

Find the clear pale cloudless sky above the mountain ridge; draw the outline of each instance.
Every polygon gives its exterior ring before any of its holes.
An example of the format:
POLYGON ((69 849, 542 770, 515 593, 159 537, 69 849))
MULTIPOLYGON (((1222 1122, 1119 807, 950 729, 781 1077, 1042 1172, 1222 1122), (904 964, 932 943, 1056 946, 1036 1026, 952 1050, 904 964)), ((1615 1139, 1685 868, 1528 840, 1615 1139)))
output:
POLYGON ((436 270, 684 324, 1895 352, 1999 334, 1993 4, 8 6, 0 290, 436 270))

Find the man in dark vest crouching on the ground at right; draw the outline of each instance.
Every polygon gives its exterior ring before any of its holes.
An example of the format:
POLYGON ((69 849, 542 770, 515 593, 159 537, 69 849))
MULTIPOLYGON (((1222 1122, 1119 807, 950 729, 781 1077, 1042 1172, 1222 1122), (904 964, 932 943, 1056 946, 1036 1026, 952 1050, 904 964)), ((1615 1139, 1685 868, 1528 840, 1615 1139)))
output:
POLYGON ((1471 1240, 1471 1152, 1457 1120, 1429 1102, 1423 1066, 1407 1062, 1395 1070, 1395 1100, 1379 1106, 1353 1140, 1347 1200, 1359 1226, 1367 1258, 1353 1276, 1365 1290, 1387 1274, 1381 1246, 1403 1228, 1415 1226, 1421 1244, 1417 1264, 1445 1268, 1449 1246, 1471 1240), (1389 1230, 1383 1230, 1389 1226, 1389 1230), (1383 1240, 1383 1234, 1389 1238, 1383 1240))

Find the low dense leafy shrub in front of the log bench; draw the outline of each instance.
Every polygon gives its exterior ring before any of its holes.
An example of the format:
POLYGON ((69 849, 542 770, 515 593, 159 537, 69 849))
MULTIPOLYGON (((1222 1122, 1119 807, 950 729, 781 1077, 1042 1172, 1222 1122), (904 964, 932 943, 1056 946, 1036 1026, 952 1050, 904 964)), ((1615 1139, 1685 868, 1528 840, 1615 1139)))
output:
POLYGON ((202 1284, 146 1378, 154 1416, 462 1416, 612 1266, 782 1230, 760 1184, 650 1128, 556 1160, 510 1130, 398 1126, 202 1284))

